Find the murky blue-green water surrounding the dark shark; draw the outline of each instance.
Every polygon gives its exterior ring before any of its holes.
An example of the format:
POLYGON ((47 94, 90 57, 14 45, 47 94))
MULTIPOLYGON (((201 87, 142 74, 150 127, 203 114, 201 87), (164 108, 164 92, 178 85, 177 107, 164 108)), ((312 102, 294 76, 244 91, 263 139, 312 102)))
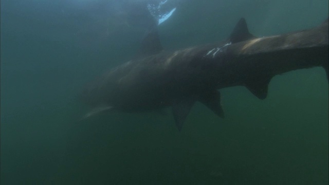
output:
MULTIPOLYGON (((181 132, 169 109, 78 123, 84 84, 143 35, 90 2, 1 1, 1 184, 328 184, 320 67, 273 78, 265 100, 222 89, 226 118, 196 104, 181 132)), ((281 34, 319 25, 328 1, 185 0, 159 34, 170 50, 221 41, 242 16, 254 35, 281 34)))

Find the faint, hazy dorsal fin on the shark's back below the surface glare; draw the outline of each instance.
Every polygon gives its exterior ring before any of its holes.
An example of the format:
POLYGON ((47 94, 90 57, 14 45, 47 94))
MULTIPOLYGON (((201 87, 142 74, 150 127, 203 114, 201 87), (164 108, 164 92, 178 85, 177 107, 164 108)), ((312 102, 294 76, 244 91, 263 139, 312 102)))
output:
POLYGON ((148 55, 153 55, 161 52, 162 45, 159 38, 159 33, 157 26, 152 26, 147 34, 144 36, 141 47, 136 55, 136 58, 147 57, 148 55))

